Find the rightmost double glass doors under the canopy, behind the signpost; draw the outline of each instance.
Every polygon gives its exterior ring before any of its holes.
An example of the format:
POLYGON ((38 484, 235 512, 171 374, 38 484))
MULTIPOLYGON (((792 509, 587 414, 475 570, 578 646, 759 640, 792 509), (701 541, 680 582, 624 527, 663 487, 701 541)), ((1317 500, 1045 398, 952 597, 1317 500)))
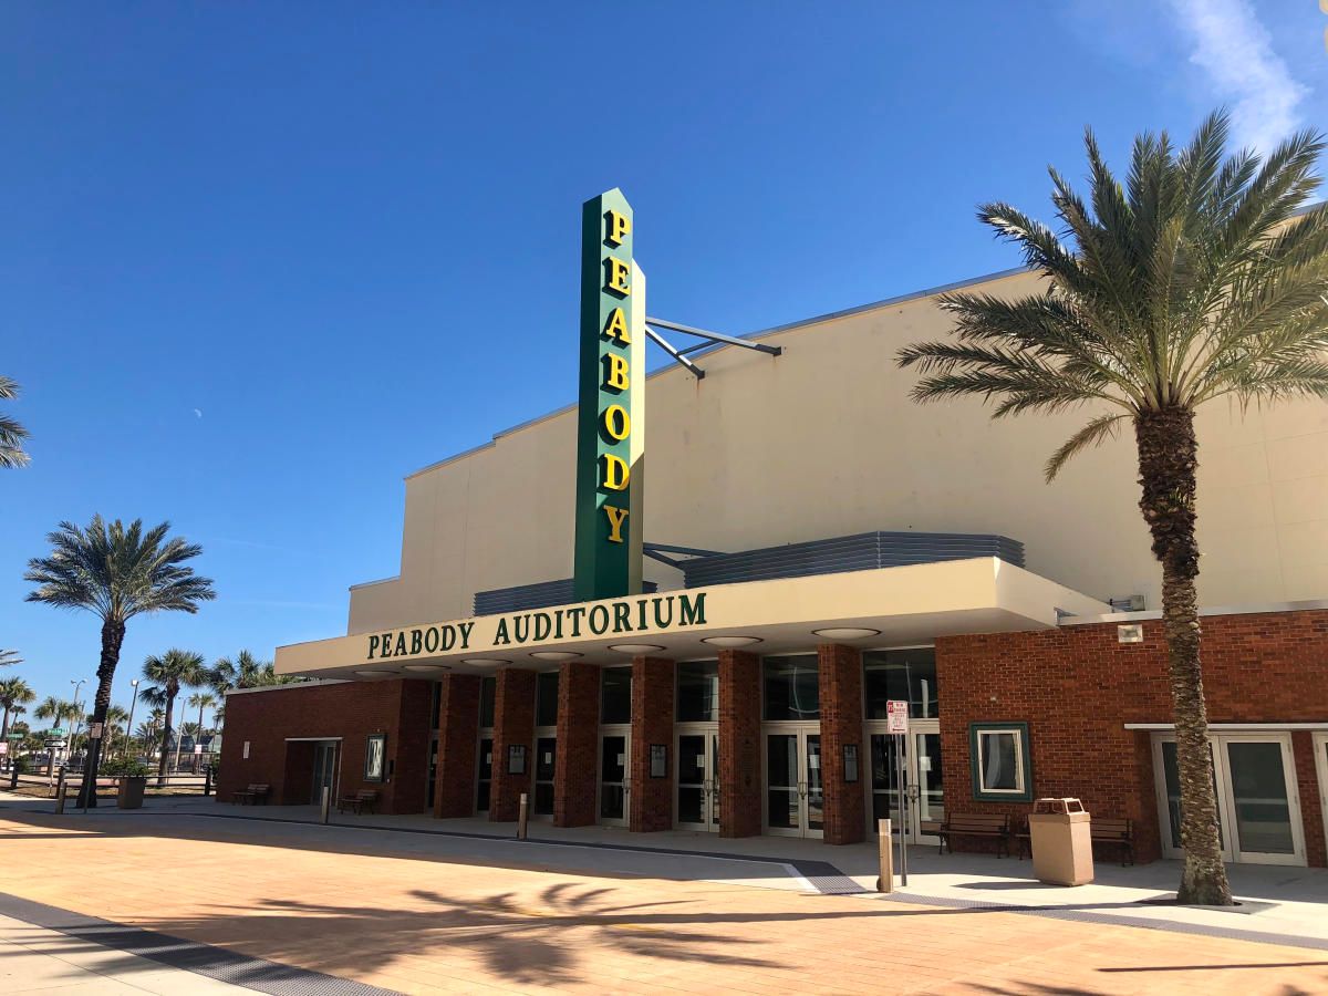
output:
MULTIPOLYGON (((869 722, 871 740, 871 826, 890 819, 899 827, 899 770, 895 765, 896 738, 884 733, 884 724, 869 722)), ((903 791, 908 799, 910 843, 936 843, 936 831, 946 817, 946 789, 940 765, 940 726, 932 721, 915 721, 904 738, 903 791)))

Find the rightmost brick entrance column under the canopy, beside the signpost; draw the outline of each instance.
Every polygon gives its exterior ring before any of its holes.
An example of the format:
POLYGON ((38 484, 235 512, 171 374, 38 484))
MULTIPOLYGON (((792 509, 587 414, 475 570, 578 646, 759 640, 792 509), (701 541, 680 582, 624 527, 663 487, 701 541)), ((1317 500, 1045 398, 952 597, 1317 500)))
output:
POLYGON ((862 653, 853 647, 817 647, 821 679, 821 778, 825 791, 826 843, 866 838, 869 756, 862 738, 862 653), (858 748, 858 781, 843 778, 843 748, 858 748))

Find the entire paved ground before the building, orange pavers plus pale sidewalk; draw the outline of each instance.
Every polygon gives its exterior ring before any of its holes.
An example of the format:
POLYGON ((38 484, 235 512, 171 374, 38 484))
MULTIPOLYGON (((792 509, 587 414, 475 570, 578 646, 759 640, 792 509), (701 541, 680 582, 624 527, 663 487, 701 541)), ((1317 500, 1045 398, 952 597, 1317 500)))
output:
POLYGON ((919 850, 906 894, 842 895, 870 849, 714 839, 693 858, 669 834, 635 835, 643 853, 603 846, 625 834, 323 827, 211 801, 49 809, 0 801, 5 992, 1328 991, 1328 875, 1303 869, 1251 879, 1264 902, 1244 912, 1177 911, 1123 900, 1174 865, 1038 890, 1028 862, 919 850))

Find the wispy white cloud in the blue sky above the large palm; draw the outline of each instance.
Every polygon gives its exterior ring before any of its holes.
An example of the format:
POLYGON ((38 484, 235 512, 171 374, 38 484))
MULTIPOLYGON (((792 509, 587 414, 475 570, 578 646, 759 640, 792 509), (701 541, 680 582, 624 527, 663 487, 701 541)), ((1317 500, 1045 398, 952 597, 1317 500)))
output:
POLYGON ((1194 42, 1190 61, 1231 106, 1236 142, 1268 153, 1296 130, 1308 90, 1272 50, 1248 0, 1171 0, 1171 8, 1194 42))

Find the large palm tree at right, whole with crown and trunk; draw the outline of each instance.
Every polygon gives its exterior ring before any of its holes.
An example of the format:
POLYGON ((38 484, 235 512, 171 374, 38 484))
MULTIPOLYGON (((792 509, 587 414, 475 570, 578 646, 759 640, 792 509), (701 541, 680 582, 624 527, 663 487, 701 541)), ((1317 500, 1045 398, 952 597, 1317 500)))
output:
POLYGON ((1181 776, 1182 903, 1227 906, 1207 709, 1199 664, 1195 578, 1195 409, 1328 397, 1328 210, 1297 216, 1317 187, 1320 135, 1303 131, 1267 159, 1224 157, 1228 118, 1210 116, 1185 149, 1135 138, 1126 185, 1093 133, 1085 135, 1089 202, 1052 170, 1053 232, 992 203, 979 218, 1016 243, 1046 278, 1017 300, 951 293, 955 340, 899 353, 923 378, 919 401, 976 394, 993 417, 1089 405, 1092 421, 1048 461, 1134 430, 1139 509, 1162 566, 1162 616, 1181 776))

